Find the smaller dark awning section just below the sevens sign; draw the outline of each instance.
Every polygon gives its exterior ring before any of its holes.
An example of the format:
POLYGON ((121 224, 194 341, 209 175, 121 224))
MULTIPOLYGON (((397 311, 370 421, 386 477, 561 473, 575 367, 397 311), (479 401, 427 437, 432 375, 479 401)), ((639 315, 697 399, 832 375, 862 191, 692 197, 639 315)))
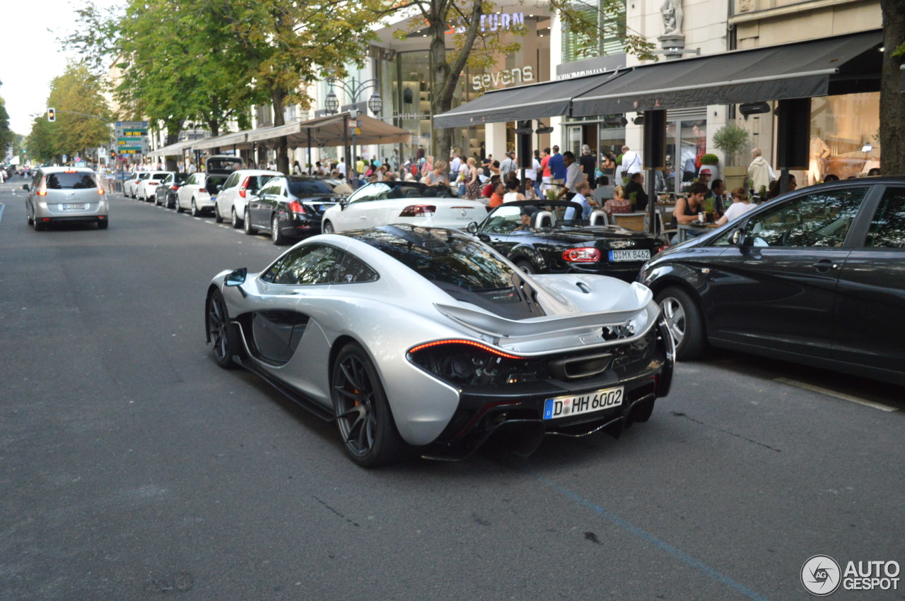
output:
POLYGON ((567 115, 573 98, 589 89, 599 88, 613 76, 611 72, 494 89, 461 107, 433 117, 433 127, 469 127, 481 123, 567 115))

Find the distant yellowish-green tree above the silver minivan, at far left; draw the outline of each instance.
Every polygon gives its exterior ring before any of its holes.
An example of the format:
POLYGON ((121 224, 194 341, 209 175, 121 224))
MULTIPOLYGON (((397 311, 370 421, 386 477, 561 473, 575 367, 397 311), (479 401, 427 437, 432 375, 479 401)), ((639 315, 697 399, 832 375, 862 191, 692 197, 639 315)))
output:
POLYGON ((81 62, 70 62, 53 78, 46 106, 56 108, 56 121, 43 114, 34 118, 26 143, 34 159, 62 162, 62 155, 84 154, 110 142, 110 107, 97 78, 81 62))

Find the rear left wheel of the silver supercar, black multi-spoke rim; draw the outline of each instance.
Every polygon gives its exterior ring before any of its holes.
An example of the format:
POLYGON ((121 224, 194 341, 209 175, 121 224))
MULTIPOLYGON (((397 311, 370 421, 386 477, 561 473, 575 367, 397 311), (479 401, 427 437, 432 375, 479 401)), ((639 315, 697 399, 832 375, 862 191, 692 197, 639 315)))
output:
POLYGON ((330 381, 339 437, 349 458, 362 467, 403 458, 408 446, 396 430, 384 387, 367 352, 356 343, 344 346, 330 381))

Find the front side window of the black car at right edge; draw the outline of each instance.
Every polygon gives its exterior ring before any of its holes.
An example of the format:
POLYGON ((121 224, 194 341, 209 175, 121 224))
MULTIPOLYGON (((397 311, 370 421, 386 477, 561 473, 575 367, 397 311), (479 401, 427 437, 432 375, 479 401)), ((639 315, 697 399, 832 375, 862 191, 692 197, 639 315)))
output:
POLYGON ((868 186, 819 191, 782 202, 748 220, 745 235, 761 247, 839 247, 868 186))

